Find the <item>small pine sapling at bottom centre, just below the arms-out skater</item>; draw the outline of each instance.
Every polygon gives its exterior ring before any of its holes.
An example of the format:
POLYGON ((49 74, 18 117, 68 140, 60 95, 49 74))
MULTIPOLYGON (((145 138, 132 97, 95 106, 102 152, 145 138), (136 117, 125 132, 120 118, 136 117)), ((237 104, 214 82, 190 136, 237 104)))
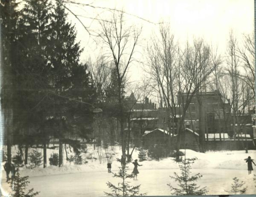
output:
MULTIPOLYGON (((127 169, 127 166, 125 168, 119 167, 118 173, 113 173, 113 177, 121 178, 122 182, 118 183, 118 185, 113 185, 108 182, 107 185, 111 189, 111 192, 104 191, 107 196, 138 196, 140 192, 140 185, 130 185, 130 182, 128 182, 127 179, 132 179, 134 175, 127 174, 127 169)), ((143 196, 146 195, 146 193, 139 195, 143 196)))

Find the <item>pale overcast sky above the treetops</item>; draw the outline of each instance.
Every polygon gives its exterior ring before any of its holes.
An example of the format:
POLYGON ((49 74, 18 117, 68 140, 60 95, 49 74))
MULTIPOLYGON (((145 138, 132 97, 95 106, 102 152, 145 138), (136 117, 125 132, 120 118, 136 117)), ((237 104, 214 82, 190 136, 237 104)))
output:
MULTIPOLYGON (((238 39, 241 39, 243 33, 253 33, 254 29, 253 0, 92 0, 91 3, 94 6, 123 9, 131 15, 153 23, 164 20, 170 23, 172 32, 180 43, 193 37, 204 38, 209 44, 218 46, 220 53, 224 53, 226 50, 231 29, 238 39)), ((104 9, 87 6, 83 9, 74 7, 70 9, 76 10, 76 13, 86 17, 97 16, 105 19, 110 16, 110 13, 104 9)), ((146 46, 152 32, 158 30, 158 25, 131 15, 126 15, 125 19, 134 23, 138 28, 143 27, 140 43, 146 46)), ((74 17, 71 18, 72 22, 76 23, 78 40, 81 40, 81 46, 84 47, 81 60, 87 60, 89 56, 92 59, 96 58, 100 51, 102 52, 101 46, 95 44, 93 36, 89 36, 74 17)), ((97 20, 92 21, 84 17, 80 17, 80 19, 86 26, 90 26, 91 31, 97 30, 97 20)), ((143 61, 143 51, 140 52, 141 56, 137 58, 139 61, 143 61)), ((140 71, 140 66, 133 65, 130 69, 137 80, 140 78, 136 74, 140 71)))

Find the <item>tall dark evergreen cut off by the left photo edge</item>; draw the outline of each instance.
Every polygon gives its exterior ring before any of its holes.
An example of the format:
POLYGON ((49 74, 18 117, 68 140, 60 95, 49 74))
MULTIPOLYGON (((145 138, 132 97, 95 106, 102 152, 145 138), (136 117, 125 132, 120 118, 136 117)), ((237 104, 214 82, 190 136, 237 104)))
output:
POLYGON ((17 44, 17 20, 19 12, 16 0, 0 0, 0 66, 1 66, 1 113, 3 114, 3 132, 7 140, 7 159, 12 161, 12 133, 16 123, 15 89, 17 80, 14 75, 16 62, 15 46, 17 44))

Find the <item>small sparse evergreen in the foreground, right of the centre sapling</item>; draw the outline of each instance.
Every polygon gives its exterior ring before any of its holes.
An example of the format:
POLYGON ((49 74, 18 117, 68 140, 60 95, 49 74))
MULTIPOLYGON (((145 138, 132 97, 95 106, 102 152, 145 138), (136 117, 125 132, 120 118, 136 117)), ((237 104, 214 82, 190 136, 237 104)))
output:
POLYGON ((170 183, 167 184, 174 195, 204 195, 207 193, 206 187, 200 188, 195 182, 202 177, 200 173, 191 175, 191 164, 193 164, 195 158, 182 159, 180 167, 181 175, 176 172, 174 176, 170 176, 175 182, 178 183, 178 187, 173 187, 170 183))

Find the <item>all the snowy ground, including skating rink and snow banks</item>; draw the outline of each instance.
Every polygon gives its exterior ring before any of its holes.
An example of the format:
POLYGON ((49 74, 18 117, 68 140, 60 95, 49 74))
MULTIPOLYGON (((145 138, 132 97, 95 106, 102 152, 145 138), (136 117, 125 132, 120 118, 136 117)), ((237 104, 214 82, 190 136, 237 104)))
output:
MULTIPOLYGON (((88 152, 97 158, 97 153, 93 151, 93 147, 89 147, 88 152)), ((109 148, 109 150, 102 152, 114 154, 116 158, 121 157, 119 147, 109 148)), ((134 151, 133 159, 138 157, 138 153, 138 151, 134 151)), ((255 159, 256 151, 249 151, 248 154, 245 154, 244 151, 209 151, 204 154, 186 150, 186 157, 198 158, 192 165, 192 173, 203 175, 201 180, 198 181, 198 185, 207 186, 208 194, 227 194, 226 191, 231 189, 234 177, 238 177, 239 180, 245 182, 245 186, 248 187, 246 194, 256 194, 256 187, 254 186, 256 183, 253 182, 254 173, 248 175, 247 164, 244 160, 248 156, 255 159)), ((104 196, 104 191, 109 191, 106 185, 107 181, 111 183, 120 181, 108 173, 105 159, 102 161, 103 163, 100 163, 99 159, 93 159, 93 161, 88 159, 87 162, 84 165, 65 163, 62 168, 48 166, 47 168, 23 169, 20 173, 23 176, 29 176, 29 188, 41 191, 39 197, 62 197, 64 194, 70 197, 104 196)), ((147 195, 171 195, 167 183, 172 185, 176 185, 176 183, 169 176, 173 175, 174 172, 180 172, 178 164, 173 158, 139 163, 143 166, 138 167, 140 171, 138 180, 131 180, 131 184, 141 184, 140 192, 146 192, 147 195)), ((120 163, 113 159, 112 171, 117 171, 119 166, 120 163)), ((128 172, 131 173, 133 165, 129 164, 128 167, 128 172)), ((3 173, 2 186, 8 191, 9 188, 5 180, 5 174, 3 173)))

